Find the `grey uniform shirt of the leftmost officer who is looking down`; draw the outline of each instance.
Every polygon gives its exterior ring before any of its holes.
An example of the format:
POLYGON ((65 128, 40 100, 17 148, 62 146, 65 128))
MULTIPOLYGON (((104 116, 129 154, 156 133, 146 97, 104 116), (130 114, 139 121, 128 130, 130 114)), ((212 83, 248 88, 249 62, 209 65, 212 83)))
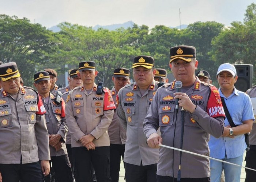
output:
POLYGON ((16 100, 0 93, 0 163, 50 160, 45 108, 37 92, 20 86, 16 100))

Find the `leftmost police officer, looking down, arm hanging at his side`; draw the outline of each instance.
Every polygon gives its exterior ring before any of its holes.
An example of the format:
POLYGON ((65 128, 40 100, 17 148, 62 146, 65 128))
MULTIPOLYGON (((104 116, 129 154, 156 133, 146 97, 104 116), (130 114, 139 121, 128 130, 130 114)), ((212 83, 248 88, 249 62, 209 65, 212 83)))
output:
POLYGON ((15 62, 0 65, 0 173, 10 182, 42 182, 50 151, 45 108, 37 92, 20 86, 15 62))

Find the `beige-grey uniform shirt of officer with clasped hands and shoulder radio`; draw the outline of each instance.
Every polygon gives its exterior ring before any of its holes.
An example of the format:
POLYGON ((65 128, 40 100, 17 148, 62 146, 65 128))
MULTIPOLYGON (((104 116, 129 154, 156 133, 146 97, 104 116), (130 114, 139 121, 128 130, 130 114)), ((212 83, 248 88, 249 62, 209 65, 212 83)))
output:
POLYGON ((108 127, 112 121, 115 104, 108 88, 96 93, 97 85, 87 93, 83 86, 69 92, 65 107, 72 147, 82 147, 79 138, 91 134, 96 147, 109 146, 108 127))

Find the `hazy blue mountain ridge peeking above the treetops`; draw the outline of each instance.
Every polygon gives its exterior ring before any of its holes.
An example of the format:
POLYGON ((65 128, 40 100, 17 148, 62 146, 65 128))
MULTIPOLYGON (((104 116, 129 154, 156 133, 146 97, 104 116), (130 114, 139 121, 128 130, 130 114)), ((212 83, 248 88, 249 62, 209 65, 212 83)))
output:
MULTIPOLYGON (((134 24, 133 21, 127 21, 125 23, 121 23, 121 24, 112 24, 112 25, 105 25, 105 26, 102 26, 102 25, 96 25, 93 27, 94 30, 97 30, 98 28, 104 28, 104 29, 109 29, 110 31, 111 30, 115 30, 117 28, 121 28, 123 27, 124 29, 127 29, 128 27, 132 27, 132 25, 134 24)), ((184 28, 187 28, 188 25, 181 25, 181 29, 184 29, 184 28)), ((177 27, 169 27, 169 28, 177 28, 177 29, 180 29, 180 26, 177 26, 177 27)), ((53 27, 50 27, 48 28, 49 30, 52 30, 53 32, 59 32, 60 31, 60 28, 58 27, 58 25, 55 25, 53 27)))

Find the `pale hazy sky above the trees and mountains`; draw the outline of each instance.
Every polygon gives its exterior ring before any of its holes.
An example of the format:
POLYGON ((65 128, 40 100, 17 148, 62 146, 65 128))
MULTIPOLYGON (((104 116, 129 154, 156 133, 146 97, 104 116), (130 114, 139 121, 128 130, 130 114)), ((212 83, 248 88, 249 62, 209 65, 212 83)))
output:
POLYGON ((0 0, 0 14, 26 17, 46 28, 67 21, 72 24, 121 24, 176 27, 196 21, 217 21, 230 26, 244 20, 255 0, 0 0), (180 9, 180 11, 179 11, 180 9))

